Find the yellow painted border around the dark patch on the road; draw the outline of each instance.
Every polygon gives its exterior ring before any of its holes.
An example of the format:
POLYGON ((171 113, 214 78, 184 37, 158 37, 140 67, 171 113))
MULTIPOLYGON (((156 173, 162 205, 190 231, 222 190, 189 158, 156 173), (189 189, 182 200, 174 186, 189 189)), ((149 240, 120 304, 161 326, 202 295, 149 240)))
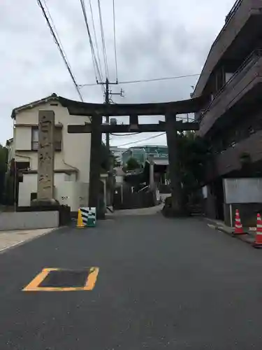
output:
POLYGON ((51 271, 59 271, 62 269, 57 268, 45 268, 42 269, 40 274, 38 274, 26 287, 22 289, 24 292, 70 292, 73 290, 92 290, 96 284, 96 279, 99 274, 99 267, 89 268, 89 274, 87 276, 87 281, 83 287, 39 287, 46 276, 51 271))

